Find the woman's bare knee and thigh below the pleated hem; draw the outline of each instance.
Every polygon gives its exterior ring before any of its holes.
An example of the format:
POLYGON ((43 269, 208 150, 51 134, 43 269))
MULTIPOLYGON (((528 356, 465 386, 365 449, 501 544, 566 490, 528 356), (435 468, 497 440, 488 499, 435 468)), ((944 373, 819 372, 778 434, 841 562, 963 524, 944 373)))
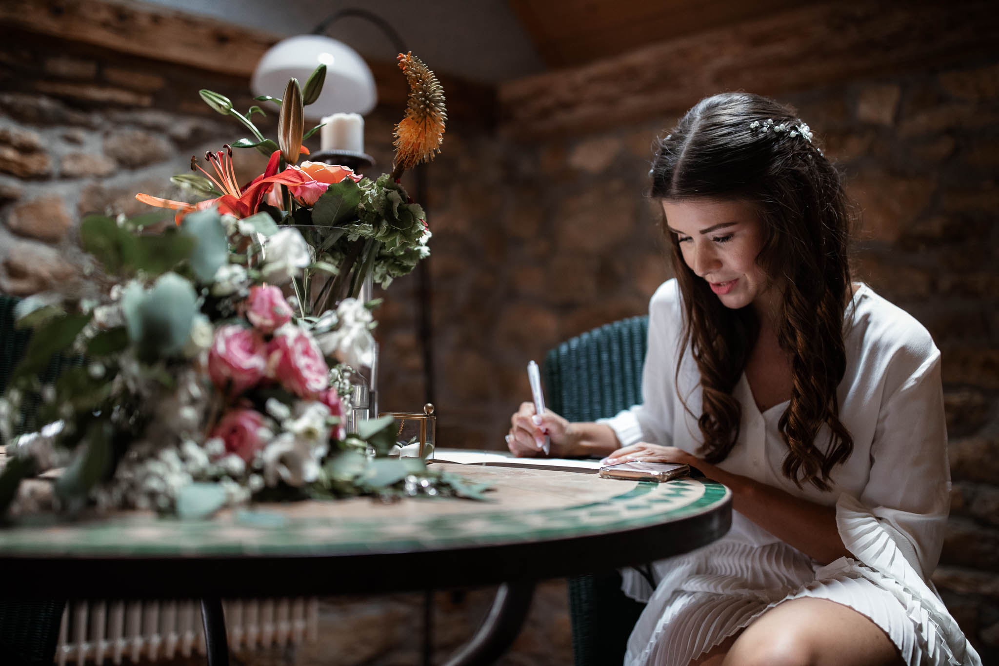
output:
POLYGON ((828 599, 802 597, 766 611, 732 643, 724 666, 899 666, 888 635, 828 599))

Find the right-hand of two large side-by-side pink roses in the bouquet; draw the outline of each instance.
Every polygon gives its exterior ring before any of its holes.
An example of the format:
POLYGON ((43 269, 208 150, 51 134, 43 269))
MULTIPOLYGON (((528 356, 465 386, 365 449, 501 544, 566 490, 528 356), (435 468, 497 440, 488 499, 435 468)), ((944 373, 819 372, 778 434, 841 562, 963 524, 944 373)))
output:
POLYGON ((330 367, 313 336, 286 324, 267 347, 268 375, 300 397, 315 400, 330 386, 330 367))

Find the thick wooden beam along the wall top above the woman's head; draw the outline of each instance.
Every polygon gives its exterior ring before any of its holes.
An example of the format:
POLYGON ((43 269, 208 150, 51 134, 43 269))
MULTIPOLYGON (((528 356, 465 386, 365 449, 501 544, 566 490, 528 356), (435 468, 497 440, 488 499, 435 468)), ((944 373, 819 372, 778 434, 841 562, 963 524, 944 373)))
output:
POLYGON ((778 95, 999 54, 989 0, 826 3, 500 86, 500 130, 532 138, 681 112, 726 90, 778 95))

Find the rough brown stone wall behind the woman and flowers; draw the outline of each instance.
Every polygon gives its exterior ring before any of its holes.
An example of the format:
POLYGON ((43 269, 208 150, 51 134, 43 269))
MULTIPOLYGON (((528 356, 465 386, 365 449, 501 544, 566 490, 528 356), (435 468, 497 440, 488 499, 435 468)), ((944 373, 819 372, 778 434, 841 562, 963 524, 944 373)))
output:
MULTIPOLYGON (((134 193, 176 194, 168 179, 192 154, 242 136, 201 104, 197 89, 247 108, 245 81, 137 58, 122 64, 106 51, 10 31, 0 37, 4 292, 30 294, 69 275, 65 258, 73 256, 81 214, 142 212, 134 193)), ((993 54, 779 96, 824 140, 863 208, 857 276, 912 313, 943 352, 954 491, 934 580, 986 663, 999 659, 997 63, 993 54)), ((391 160, 400 111, 379 109, 368 119, 369 148, 381 165, 391 160)), ((645 312, 670 272, 642 189, 652 139, 681 112, 530 143, 449 126, 426 202, 435 234, 429 267, 442 445, 500 448, 509 413, 529 395, 528 358, 540 361, 568 336, 645 312)), ((249 180, 263 159, 239 155, 249 180)), ((410 277, 393 286, 379 314, 384 408, 411 409, 424 399, 418 308, 410 277)), ((478 617, 486 601, 477 594, 441 597, 439 617, 448 626, 448 617, 478 617)), ((570 662, 560 583, 539 598, 545 619, 535 617, 531 626, 540 628, 528 628, 503 663, 570 662)), ((419 602, 330 604, 324 622, 386 628, 371 634, 380 647, 355 663, 415 663, 417 643, 392 632, 404 623, 418 630, 419 602)), ((310 654, 342 649, 330 639, 271 654, 267 663, 311 663, 310 654)))

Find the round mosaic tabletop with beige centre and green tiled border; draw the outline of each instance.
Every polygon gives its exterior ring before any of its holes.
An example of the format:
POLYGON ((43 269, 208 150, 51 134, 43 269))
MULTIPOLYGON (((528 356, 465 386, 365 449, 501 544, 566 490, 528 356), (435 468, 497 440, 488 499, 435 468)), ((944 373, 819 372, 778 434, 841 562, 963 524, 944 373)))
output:
POLYGON ((255 504, 206 520, 131 511, 76 522, 36 516, 0 528, 0 558, 364 555, 607 534, 728 510, 705 479, 665 483, 579 471, 435 463, 489 483, 490 501, 371 498, 255 504))

